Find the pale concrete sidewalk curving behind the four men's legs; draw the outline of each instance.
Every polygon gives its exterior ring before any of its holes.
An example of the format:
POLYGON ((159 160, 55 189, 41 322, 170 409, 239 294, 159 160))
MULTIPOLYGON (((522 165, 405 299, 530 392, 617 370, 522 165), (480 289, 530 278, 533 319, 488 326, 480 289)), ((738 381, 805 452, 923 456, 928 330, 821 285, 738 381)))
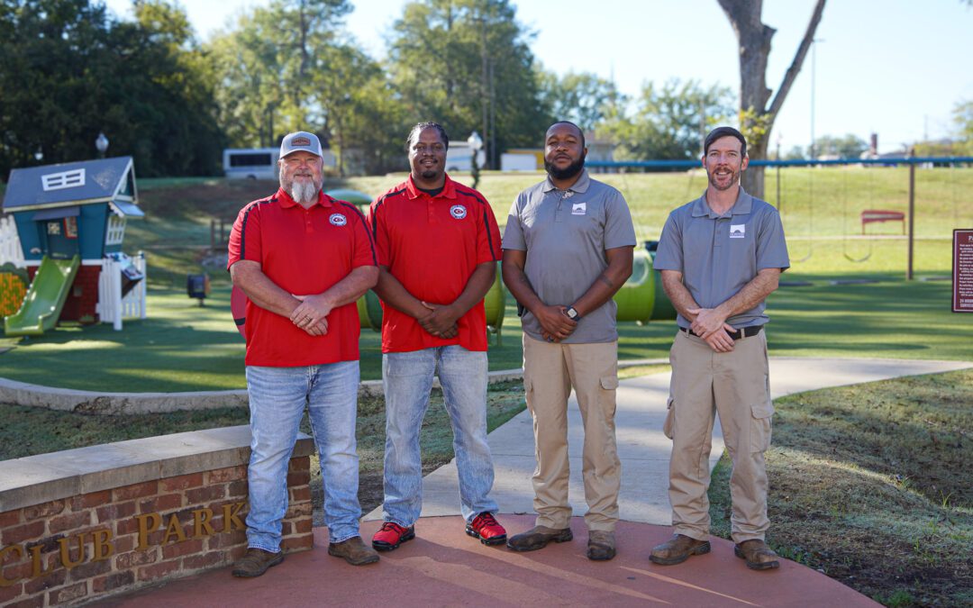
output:
MULTIPOLYGON (((897 376, 936 374, 973 367, 963 361, 905 361, 899 359, 822 359, 771 357, 771 393, 776 399, 829 386, 843 386, 897 376)), ((618 454, 622 460, 620 517, 626 521, 668 525, 668 457, 671 442, 663 435, 668 397, 668 374, 622 380, 618 389, 615 423, 618 454)), ((713 432, 710 467, 723 453, 717 422, 713 432)), ((568 406, 568 453, 571 463, 570 497, 575 515, 584 515, 581 480, 583 442, 581 414, 572 396, 568 406)), ((493 496, 500 513, 533 513, 533 421, 523 411, 489 434, 496 480, 493 496)), ((422 517, 459 515, 456 462, 440 467, 422 483, 422 517)), ((381 519, 379 507, 366 519, 381 519)))

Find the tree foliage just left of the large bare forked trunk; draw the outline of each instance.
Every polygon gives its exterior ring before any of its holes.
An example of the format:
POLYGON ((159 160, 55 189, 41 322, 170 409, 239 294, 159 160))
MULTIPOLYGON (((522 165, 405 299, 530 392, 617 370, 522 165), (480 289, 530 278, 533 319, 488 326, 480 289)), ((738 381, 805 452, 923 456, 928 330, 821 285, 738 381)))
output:
POLYGON ((693 80, 673 79, 661 88, 649 83, 633 111, 608 116, 599 133, 619 143, 618 160, 695 160, 702 156, 704 132, 726 124, 735 113, 733 103, 730 89, 705 89, 693 80))

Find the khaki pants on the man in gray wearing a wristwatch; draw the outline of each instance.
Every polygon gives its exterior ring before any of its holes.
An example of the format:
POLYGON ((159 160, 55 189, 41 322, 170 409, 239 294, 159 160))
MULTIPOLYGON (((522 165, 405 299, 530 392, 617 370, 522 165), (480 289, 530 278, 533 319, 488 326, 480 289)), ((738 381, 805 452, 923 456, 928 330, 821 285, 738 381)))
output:
POLYGON ((537 469, 532 478, 537 524, 566 528, 567 398, 571 387, 585 430, 582 475, 589 530, 614 531, 622 463, 615 447, 618 342, 561 344, 523 335, 523 388, 534 418, 537 469))

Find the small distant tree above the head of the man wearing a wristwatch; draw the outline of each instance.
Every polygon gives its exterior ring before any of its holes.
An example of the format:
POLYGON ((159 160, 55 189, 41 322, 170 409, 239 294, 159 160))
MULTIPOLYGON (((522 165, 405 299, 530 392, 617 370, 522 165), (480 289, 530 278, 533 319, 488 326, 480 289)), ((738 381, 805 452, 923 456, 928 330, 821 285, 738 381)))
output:
POLYGON ((586 131, 594 130, 625 102, 614 83, 590 72, 568 72, 558 77, 538 69, 537 80, 541 108, 555 120, 571 121, 586 131))

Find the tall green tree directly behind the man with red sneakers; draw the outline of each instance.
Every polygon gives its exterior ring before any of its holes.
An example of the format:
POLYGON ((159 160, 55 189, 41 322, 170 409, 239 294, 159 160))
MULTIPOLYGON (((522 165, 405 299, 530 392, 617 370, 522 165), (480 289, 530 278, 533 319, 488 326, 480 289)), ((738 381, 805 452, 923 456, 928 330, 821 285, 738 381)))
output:
POLYGON ((508 0, 421 0, 393 26, 390 77, 410 122, 434 120, 454 139, 474 129, 488 166, 499 151, 537 146, 551 121, 538 99, 532 34, 508 0))

